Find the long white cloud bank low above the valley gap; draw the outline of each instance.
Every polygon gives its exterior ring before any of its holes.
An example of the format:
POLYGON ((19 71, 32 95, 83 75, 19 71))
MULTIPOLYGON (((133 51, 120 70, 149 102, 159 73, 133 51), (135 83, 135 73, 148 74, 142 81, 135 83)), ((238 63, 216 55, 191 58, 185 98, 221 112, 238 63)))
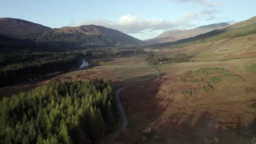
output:
POLYGON ((143 17, 124 15, 119 17, 117 21, 107 21, 104 19, 83 20, 75 22, 74 20, 67 26, 81 25, 99 25, 108 28, 117 29, 128 34, 143 33, 144 31, 166 30, 177 27, 191 27, 190 21, 195 19, 197 14, 187 13, 181 16, 179 20, 170 21, 164 19, 144 19, 143 17))

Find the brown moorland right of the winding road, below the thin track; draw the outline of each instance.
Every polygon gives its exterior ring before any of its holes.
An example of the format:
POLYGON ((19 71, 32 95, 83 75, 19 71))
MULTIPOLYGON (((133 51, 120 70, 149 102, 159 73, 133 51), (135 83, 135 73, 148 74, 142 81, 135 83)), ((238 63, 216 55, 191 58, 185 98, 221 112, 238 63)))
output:
POLYGON ((121 91, 128 125, 113 143, 251 143, 255 60, 154 65, 162 79, 121 91))

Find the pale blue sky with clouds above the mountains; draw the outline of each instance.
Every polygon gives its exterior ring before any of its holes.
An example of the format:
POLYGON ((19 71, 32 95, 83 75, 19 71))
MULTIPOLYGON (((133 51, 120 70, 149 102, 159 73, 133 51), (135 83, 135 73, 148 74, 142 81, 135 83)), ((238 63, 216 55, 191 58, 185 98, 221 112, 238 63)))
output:
POLYGON ((0 0, 0 17, 51 28, 100 25, 145 40, 171 29, 234 23, 256 16, 255 0, 0 0))

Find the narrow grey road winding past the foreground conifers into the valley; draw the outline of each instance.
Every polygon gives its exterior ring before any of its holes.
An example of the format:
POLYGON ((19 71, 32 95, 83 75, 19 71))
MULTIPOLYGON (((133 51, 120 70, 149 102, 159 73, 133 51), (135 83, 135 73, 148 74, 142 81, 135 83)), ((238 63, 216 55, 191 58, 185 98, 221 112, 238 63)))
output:
MULTIPOLYGON (((161 78, 161 74, 160 74, 160 72, 159 72, 158 69, 155 69, 155 68, 151 67, 151 66, 148 64, 147 61, 145 61, 145 64, 147 65, 147 67, 148 67, 149 69, 152 69, 152 70, 154 71, 154 74, 156 75, 156 78, 157 78, 157 79, 160 79, 160 78, 161 78)), ((135 84, 132 84, 132 85, 135 85, 135 84)), ((129 86, 131 86, 131 85, 129 85, 129 86)), ((121 115, 122 115, 122 118, 123 118, 123 121, 124 121, 124 122, 123 122, 123 126, 122 126, 120 129, 118 129, 117 131, 115 131, 112 135, 110 135, 110 136, 103 142, 103 143, 105 143, 105 144, 108 144, 108 143, 110 143, 111 141, 115 140, 115 139, 118 137, 118 135, 121 133, 121 131, 124 131, 125 128, 126 128, 126 126, 127 126, 127 117, 126 117, 126 115, 125 115, 124 107, 123 107, 123 105, 122 105, 122 103, 121 103, 121 100, 120 100, 120 97, 119 97, 120 91, 122 91, 122 89, 124 89, 124 88, 126 88, 126 87, 128 87, 128 86, 118 88, 117 91, 115 91, 115 97, 116 97, 116 99, 117 99, 118 108, 119 108, 119 111, 121 112, 121 115)))

